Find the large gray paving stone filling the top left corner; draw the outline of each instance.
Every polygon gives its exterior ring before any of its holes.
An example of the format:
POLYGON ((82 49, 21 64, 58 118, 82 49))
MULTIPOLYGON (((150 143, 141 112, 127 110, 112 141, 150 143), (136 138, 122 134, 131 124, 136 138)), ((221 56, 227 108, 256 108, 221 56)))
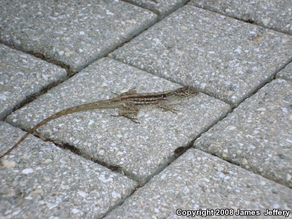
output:
POLYGON ((0 4, 0 40, 79 71, 151 26, 157 16, 114 0, 0 4))

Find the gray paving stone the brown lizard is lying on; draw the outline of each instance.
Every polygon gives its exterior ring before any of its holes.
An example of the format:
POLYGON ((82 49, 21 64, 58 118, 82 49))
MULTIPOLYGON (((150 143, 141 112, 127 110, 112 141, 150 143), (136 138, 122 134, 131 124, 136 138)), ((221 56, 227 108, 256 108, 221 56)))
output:
MULTIPOLYGON (((179 85, 103 58, 17 110, 7 121, 29 129, 61 109, 112 98, 112 91, 133 87, 143 93, 171 90, 179 85)), ((174 108, 177 114, 144 107, 137 115, 140 124, 111 116, 117 114, 114 109, 88 110, 55 119, 39 132, 74 145, 84 157, 119 167, 144 183, 167 165, 177 148, 185 147, 230 110, 228 104, 205 94, 182 98, 174 108)))

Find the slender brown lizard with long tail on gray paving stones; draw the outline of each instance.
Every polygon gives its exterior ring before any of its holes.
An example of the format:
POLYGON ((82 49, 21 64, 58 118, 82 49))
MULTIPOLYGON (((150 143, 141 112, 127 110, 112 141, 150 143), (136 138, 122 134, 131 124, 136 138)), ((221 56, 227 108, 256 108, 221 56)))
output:
POLYGON ((131 117, 130 114, 137 114, 139 111, 139 106, 143 105, 156 105, 160 108, 163 108, 164 110, 170 110, 172 112, 175 112, 172 108, 169 106, 163 105, 165 101, 168 100, 168 97, 171 96, 179 96, 179 97, 188 97, 190 95, 197 94, 196 91, 192 90, 189 87, 182 87, 174 90, 164 91, 164 92, 155 92, 155 93, 136 93, 136 91, 126 92, 123 94, 118 95, 117 97, 106 99, 106 100, 100 100, 93 103, 86 103, 74 107, 70 107, 64 110, 61 110, 46 119, 42 120, 41 122, 37 123, 34 127, 32 127, 29 131, 23 135, 23 137, 17 141, 16 144, 13 145, 7 152, 5 152, 0 159, 2 159, 4 156, 8 155, 13 149, 15 149, 21 142, 24 141, 24 139, 34 131, 36 131, 39 127, 46 124, 47 122, 56 119, 60 116, 84 111, 84 110, 90 110, 90 109, 102 109, 102 108, 120 108, 123 110, 127 110, 124 112, 119 112, 118 116, 124 116, 133 122, 139 123, 135 121, 136 118, 131 117))

